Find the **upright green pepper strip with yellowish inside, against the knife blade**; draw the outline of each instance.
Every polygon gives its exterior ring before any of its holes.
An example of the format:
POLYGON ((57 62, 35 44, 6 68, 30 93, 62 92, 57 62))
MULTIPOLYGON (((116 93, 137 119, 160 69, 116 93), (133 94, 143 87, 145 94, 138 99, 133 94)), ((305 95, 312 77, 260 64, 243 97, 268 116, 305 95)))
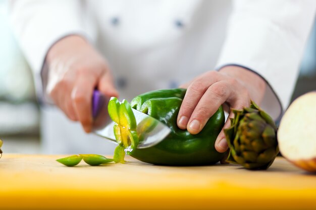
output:
POLYGON ((116 97, 110 99, 108 111, 111 119, 115 122, 114 135, 119 144, 115 150, 114 160, 116 163, 122 163, 124 162, 125 153, 132 154, 138 145, 136 119, 131 105, 126 100, 120 103, 116 97), (125 153, 122 153, 122 151, 125 153))

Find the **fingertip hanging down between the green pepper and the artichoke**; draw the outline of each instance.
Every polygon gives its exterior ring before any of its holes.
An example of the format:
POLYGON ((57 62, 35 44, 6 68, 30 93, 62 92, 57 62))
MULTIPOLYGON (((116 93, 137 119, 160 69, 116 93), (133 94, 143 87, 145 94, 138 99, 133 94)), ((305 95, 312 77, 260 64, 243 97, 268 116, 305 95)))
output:
MULTIPOLYGON (((236 101, 234 104, 232 104, 231 107, 234 109, 237 109, 237 110, 241 110, 244 107, 248 107, 250 105, 250 97, 245 96, 243 99, 244 100, 236 101)), ((220 153, 223 153, 228 149, 228 144, 226 141, 224 130, 231 126, 230 119, 234 118, 234 116, 235 116, 234 113, 232 111, 230 111, 230 114, 228 115, 228 118, 224 124, 223 129, 221 130, 221 132, 219 133, 219 135, 216 138, 215 149, 220 153)))

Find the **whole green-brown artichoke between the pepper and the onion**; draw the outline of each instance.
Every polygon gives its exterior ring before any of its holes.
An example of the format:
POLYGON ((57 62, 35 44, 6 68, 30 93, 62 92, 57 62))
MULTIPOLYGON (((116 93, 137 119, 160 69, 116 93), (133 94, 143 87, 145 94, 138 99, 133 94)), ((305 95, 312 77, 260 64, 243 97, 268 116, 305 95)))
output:
POLYGON ((233 112, 231 127, 224 130, 230 148, 227 162, 246 169, 269 168, 279 153, 275 122, 253 101, 233 112))

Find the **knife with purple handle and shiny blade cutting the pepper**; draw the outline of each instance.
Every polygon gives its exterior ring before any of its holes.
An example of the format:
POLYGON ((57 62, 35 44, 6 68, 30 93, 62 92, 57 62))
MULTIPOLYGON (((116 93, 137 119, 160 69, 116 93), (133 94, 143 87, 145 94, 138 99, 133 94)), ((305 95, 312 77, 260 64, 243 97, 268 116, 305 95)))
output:
MULTIPOLYGON (((92 116, 93 116, 93 129, 92 132, 116 142, 114 135, 115 122, 109 116, 108 113, 109 98, 101 94, 98 90, 93 91, 92 95, 92 116)), ((140 142, 137 148, 152 147, 161 141, 170 133, 171 129, 159 120, 144 114, 136 109, 132 108, 132 111, 136 118, 136 130, 141 136, 140 142), (148 123, 149 122, 149 123, 148 123), (148 129, 146 126, 148 125, 148 129)))

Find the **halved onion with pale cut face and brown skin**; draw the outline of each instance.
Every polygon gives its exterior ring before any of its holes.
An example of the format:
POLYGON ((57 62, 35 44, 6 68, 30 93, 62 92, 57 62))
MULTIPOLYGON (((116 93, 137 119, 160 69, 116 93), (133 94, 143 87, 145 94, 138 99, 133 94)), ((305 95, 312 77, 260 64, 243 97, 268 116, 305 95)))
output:
POLYGON ((283 157, 296 166, 316 172, 316 91, 293 101, 278 130, 283 157))

